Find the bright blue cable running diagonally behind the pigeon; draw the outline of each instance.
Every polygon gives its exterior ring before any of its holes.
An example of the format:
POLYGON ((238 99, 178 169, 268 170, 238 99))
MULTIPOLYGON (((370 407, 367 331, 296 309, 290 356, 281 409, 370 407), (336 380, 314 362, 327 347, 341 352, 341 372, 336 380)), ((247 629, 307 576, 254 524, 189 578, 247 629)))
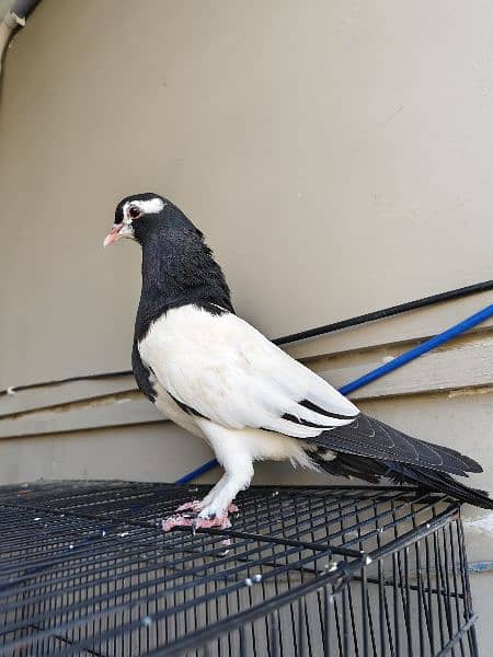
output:
MULTIPOLYGON (((345 385, 340 388, 339 391, 342 394, 349 394, 349 392, 354 392, 355 390, 358 390, 359 388, 363 388, 364 385, 368 385, 368 383, 371 383, 371 381, 375 381, 376 379, 380 379, 380 377, 385 377, 389 372, 392 372, 393 370, 397 370, 398 368, 400 368, 404 365, 408 365, 408 362, 411 362, 411 360, 414 360, 415 358, 423 356, 423 354, 426 354, 427 351, 435 349, 435 347, 439 347, 440 345, 445 344, 446 342, 454 339, 455 337, 461 335, 462 333, 466 333, 466 331, 473 328, 478 324, 485 322, 486 320, 489 320, 492 316, 493 316, 493 303, 491 306, 486 306, 486 308, 483 308, 483 310, 480 310, 479 312, 467 318, 462 322, 459 322, 459 324, 456 324, 455 326, 447 328, 443 333, 435 335, 435 337, 431 337, 429 339, 425 341, 421 345, 417 345, 417 347, 413 347, 412 349, 409 349, 409 351, 404 351, 403 354, 401 354, 400 356, 397 356, 389 362, 386 362, 385 365, 375 368, 374 370, 367 372, 366 374, 363 374, 363 377, 359 377, 355 381, 351 381, 349 383, 346 383, 345 385)), ((204 463, 199 468, 192 470, 192 472, 188 472, 184 476, 176 480, 174 483, 175 484, 187 484, 190 481, 192 481, 196 476, 204 474, 205 472, 208 472, 209 470, 213 470, 213 468, 215 468, 216 465, 218 465, 218 462, 216 461, 216 459, 213 459, 211 461, 207 461, 207 463, 204 463)))

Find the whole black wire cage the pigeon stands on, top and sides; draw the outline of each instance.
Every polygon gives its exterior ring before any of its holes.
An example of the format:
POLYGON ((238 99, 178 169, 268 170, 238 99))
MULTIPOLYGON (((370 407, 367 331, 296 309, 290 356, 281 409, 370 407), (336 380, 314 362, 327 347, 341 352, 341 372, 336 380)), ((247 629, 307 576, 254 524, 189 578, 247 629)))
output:
POLYGON ((478 655, 458 504, 254 487, 229 530, 162 532, 207 489, 0 488, 0 655, 478 655))

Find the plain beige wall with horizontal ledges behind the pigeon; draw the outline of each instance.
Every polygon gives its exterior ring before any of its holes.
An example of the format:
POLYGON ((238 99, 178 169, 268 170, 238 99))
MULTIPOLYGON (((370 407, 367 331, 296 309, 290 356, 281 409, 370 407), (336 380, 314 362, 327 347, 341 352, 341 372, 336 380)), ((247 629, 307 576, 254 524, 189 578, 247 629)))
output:
MULTIPOLYGON (((206 232, 271 336, 492 278, 492 21, 480 0, 43 0, 0 96, 0 389, 129 367, 139 253, 101 244, 139 191, 206 232)), ((342 384, 492 302, 291 351, 342 384)), ((491 325, 357 397, 480 459, 493 491, 491 325)), ((0 482, 173 480, 209 457, 134 389, 0 397, 0 482)), ((493 560, 467 514, 471 561, 493 560)))

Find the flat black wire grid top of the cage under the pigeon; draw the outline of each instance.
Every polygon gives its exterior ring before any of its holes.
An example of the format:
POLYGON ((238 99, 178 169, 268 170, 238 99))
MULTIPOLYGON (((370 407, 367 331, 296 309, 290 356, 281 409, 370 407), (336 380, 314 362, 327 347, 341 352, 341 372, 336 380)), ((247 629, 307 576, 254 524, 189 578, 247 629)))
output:
POLYGON ((39 642, 49 655, 83 648, 116 657, 162 645, 167 655, 181 654, 173 646, 194 645, 195 635, 221 624, 240 626, 279 599, 341 586, 459 509, 415 488, 264 486, 239 496, 229 530, 161 531, 163 517, 207 489, 131 482, 0 487, 0 655, 34 654, 39 642), (136 641, 146 647, 135 648, 136 641))

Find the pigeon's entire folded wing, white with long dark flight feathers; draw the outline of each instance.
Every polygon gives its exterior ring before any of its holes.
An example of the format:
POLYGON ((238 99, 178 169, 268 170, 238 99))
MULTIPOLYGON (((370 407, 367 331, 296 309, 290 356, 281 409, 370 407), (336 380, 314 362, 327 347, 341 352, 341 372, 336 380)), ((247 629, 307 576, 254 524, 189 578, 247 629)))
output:
POLYGON ((457 474, 481 468, 459 452, 367 417, 326 381, 234 314, 169 311, 140 344, 183 408, 232 429, 262 428, 330 450, 457 474), (174 314, 173 314, 174 312, 174 314))

